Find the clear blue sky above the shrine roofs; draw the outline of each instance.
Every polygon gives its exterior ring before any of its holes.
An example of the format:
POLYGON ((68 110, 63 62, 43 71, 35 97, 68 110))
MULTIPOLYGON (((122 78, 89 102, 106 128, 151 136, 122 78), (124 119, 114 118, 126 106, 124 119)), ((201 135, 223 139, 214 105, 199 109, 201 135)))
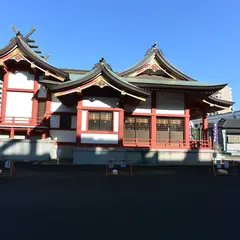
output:
POLYGON ((229 83, 240 109, 239 0, 12 0, 1 2, 0 47, 36 26, 57 67, 91 69, 102 55, 115 71, 157 41, 167 59, 203 82, 229 83))

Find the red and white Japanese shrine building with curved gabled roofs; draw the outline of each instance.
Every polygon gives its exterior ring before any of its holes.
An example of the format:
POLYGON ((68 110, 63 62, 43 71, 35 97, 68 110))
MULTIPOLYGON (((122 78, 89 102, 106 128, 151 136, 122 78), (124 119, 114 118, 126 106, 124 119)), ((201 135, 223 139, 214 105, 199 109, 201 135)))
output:
POLYGON ((212 154, 208 113, 233 105, 214 97, 227 84, 200 82, 173 66, 155 43, 115 72, 104 57, 90 70, 61 69, 15 29, 0 49, 0 139, 41 140, 76 164, 111 158, 191 164, 212 154), (190 121, 202 118, 202 139, 190 121), (195 160, 194 160, 195 159, 195 160))

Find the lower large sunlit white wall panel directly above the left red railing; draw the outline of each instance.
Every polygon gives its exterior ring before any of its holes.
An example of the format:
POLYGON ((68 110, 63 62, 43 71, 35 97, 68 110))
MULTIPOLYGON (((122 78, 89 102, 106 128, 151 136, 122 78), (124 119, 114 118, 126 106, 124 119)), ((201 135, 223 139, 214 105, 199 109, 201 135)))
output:
POLYGON ((8 92, 6 117, 32 117, 33 93, 8 92))

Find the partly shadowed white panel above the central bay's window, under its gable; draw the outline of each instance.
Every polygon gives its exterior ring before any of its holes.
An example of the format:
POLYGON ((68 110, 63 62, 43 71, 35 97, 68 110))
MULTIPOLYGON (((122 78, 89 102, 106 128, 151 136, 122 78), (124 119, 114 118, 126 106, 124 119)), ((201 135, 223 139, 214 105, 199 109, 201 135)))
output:
POLYGON ((85 97, 83 99, 84 107, 116 107, 119 99, 118 98, 108 98, 108 97, 85 97))

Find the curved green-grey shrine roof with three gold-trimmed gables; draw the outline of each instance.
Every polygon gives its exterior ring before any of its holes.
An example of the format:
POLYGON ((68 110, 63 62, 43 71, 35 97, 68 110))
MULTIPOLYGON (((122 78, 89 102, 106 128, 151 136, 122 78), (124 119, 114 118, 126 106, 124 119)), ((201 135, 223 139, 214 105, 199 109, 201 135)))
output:
MULTIPOLYGON (((104 79, 104 84, 108 84, 108 86, 112 84, 112 87, 116 87, 115 89, 122 91, 123 94, 127 93, 140 99, 146 99, 149 96, 149 89, 151 91, 155 89, 164 89, 164 91, 169 89, 186 90, 188 92, 199 91, 201 96, 204 95, 202 93, 205 91, 206 94, 200 100, 204 101, 205 105, 216 106, 216 108, 220 106, 229 107, 234 104, 233 102, 223 101, 210 96, 224 88, 227 84, 198 82, 187 76, 164 57, 156 43, 147 51, 143 59, 120 73, 113 72, 104 57, 93 66, 92 70, 60 69, 49 64, 47 57, 40 56, 38 53, 41 53, 41 51, 33 50, 38 48, 38 46, 31 45, 30 43, 35 42, 35 40, 29 37, 35 31, 35 28, 30 30, 25 36, 14 27, 13 30, 16 36, 11 39, 6 47, 0 49, 0 65, 8 59, 19 61, 16 57, 19 57, 17 55, 20 54, 22 60, 30 63, 31 67, 39 68, 45 72, 45 76, 54 77, 45 77, 44 80, 40 81, 54 93, 79 87, 81 89, 83 85, 91 83, 91 81, 102 75, 106 78, 104 79), (61 80, 61 82, 55 81, 55 78, 61 80)), ((77 91, 76 89, 74 91, 77 91)))

